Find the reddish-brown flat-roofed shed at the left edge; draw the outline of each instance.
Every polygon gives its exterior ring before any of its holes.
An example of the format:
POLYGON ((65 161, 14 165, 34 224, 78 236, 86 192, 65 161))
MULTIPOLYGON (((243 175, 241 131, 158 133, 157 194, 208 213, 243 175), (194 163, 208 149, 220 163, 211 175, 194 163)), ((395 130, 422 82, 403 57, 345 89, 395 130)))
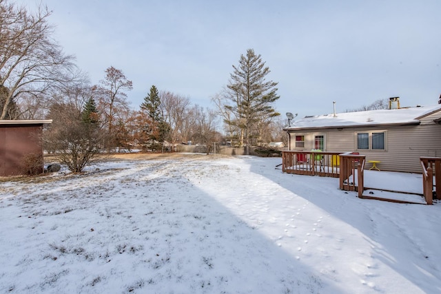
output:
POLYGON ((43 162, 41 136, 43 125, 50 123, 52 120, 0 120, 0 176, 22 174, 27 156, 43 162))

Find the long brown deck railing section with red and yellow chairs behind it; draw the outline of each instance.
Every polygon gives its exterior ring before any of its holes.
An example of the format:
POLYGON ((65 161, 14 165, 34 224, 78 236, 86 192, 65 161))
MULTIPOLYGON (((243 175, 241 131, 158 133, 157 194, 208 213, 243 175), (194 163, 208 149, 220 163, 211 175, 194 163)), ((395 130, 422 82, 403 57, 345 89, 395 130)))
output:
POLYGON ((338 178, 340 154, 325 151, 282 151, 282 171, 287 174, 338 178))

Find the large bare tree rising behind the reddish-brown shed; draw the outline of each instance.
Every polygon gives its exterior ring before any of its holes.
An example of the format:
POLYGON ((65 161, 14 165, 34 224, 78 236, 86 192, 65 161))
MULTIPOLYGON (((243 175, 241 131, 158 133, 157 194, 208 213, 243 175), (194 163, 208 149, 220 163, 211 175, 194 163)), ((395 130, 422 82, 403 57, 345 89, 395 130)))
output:
POLYGON ((22 95, 41 98, 54 84, 74 79, 73 57, 52 39, 50 14, 43 6, 31 14, 0 0, 0 86, 8 90, 0 99, 0 119, 18 118, 21 113, 11 110, 22 95))

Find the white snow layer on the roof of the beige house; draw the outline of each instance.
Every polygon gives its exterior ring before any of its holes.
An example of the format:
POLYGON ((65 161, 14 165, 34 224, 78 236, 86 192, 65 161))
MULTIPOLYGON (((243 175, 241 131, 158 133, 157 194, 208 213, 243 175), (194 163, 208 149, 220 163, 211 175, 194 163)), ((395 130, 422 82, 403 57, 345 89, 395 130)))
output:
POLYGON ((361 127, 364 125, 389 125, 419 123, 420 118, 441 110, 441 105, 378 109, 365 112, 344 112, 320 116, 305 116, 291 122, 285 129, 309 129, 323 127, 361 127))

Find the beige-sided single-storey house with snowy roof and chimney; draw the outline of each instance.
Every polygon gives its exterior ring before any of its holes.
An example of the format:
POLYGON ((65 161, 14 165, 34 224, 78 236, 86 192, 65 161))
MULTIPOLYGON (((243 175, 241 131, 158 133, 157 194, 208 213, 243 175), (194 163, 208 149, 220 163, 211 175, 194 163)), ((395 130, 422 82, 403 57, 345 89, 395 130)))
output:
MULTIPOLYGON (((393 99, 393 100, 392 100, 393 99)), ((305 116, 284 130, 288 149, 358 152, 385 171, 421 173, 420 156, 441 156, 441 105, 305 116)))

